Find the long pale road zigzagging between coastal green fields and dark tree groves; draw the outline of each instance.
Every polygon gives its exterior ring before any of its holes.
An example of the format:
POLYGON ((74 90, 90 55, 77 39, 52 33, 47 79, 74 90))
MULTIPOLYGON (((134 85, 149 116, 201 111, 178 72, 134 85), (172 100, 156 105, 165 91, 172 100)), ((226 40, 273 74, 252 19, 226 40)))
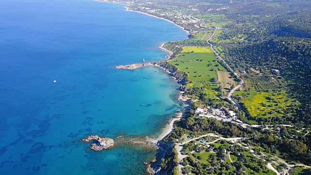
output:
POLYGON ((212 37, 214 37, 214 35, 216 34, 216 31, 219 30, 219 29, 221 29, 221 28, 218 28, 218 27, 215 28, 213 34, 207 39, 207 43, 209 44, 210 49, 213 51, 213 53, 214 53, 221 61, 223 61, 223 62, 225 63, 225 66, 226 66, 233 74, 235 74, 238 78, 241 79, 241 81, 239 82, 238 86, 236 86, 235 88, 233 88, 233 89, 229 92, 228 96, 226 97, 228 100, 230 100, 230 102, 232 102, 232 103, 233 103, 234 105, 236 105, 239 109, 241 109, 241 105, 240 105, 238 102, 236 102, 235 100, 233 100, 232 94, 233 94, 237 89, 241 88, 241 87, 244 85, 244 80, 242 80, 241 76, 240 76, 238 73, 234 72, 234 70, 225 62, 225 60, 214 50, 213 44, 209 42, 209 40, 210 40, 212 37))

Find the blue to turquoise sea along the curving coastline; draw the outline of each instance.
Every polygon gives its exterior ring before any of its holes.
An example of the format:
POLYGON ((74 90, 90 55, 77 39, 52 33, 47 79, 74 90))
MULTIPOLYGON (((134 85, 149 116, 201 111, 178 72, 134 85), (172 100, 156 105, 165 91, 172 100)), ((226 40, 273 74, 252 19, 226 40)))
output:
POLYGON ((160 135, 183 109, 158 48, 187 34, 92 0, 0 0, 0 175, 141 175, 155 150, 81 139, 160 135), (55 83, 53 81, 56 80, 55 83))

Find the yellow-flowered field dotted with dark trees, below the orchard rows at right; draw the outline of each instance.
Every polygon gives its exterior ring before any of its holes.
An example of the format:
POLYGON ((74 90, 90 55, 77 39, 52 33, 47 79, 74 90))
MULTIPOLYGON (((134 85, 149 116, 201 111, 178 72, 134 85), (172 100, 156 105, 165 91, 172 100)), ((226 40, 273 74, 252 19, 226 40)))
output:
POLYGON ((234 95, 242 97, 241 102, 253 117, 284 116, 287 109, 298 105, 292 99, 286 97, 284 90, 279 92, 235 91, 234 95))

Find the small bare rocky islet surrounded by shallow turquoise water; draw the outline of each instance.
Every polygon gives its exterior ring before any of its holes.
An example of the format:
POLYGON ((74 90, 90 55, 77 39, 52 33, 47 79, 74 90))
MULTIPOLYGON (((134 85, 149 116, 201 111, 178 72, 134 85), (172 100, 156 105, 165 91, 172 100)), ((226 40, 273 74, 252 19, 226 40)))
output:
POLYGON ((98 135, 87 136, 82 141, 85 142, 93 141, 89 148, 94 151, 102 151, 103 149, 112 147, 115 143, 114 140, 110 138, 100 137, 98 135))

